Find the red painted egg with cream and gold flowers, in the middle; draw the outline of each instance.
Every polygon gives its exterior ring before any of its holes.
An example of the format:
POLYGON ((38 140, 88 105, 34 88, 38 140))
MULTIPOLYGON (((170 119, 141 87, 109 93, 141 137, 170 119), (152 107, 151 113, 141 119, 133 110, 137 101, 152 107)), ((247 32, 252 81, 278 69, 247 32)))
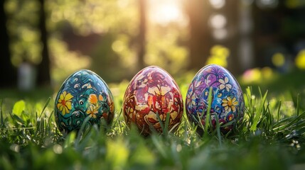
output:
POLYGON ((144 136, 151 134, 151 128, 161 133, 160 123, 165 125, 167 115, 168 130, 176 130, 183 114, 178 85, 164 69, 155 66, 142 69, 127 86, 123 113, 127 125, 136 125, 144 136))

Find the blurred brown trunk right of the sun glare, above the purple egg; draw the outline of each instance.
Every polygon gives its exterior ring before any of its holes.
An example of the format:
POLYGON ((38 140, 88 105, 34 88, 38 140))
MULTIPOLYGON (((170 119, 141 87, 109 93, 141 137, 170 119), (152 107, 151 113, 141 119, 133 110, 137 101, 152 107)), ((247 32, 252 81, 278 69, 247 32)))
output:
POLYGON ((186 13, 188 13, 190 30, 188 69, 198 70, 205 65, 210 54, 211 36, 208 26, 210 6, 208 1, 187 1, 186 13))

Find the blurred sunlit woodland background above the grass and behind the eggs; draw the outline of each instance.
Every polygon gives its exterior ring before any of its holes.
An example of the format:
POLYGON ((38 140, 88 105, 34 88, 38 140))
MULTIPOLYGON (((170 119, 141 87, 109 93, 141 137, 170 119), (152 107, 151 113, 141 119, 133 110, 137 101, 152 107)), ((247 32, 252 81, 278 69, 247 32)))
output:
POLYGON ((242 84, 305 75, 303 0, 0 3, 1 89, 56 90, 78 69, 115 84, 149 65, 180 79, 220 64, 242 84))

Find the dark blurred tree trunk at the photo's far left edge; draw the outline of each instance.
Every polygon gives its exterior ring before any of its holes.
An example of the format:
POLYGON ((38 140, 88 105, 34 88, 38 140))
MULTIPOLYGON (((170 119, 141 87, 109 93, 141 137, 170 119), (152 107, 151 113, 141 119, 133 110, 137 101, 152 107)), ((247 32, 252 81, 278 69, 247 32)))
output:
POLYGON ((9 51, 9 35, 6 30, 6 13, 4 1, 0 6, 0 87, 16 86, 16 68, 11 63, 11 53, 9 51))

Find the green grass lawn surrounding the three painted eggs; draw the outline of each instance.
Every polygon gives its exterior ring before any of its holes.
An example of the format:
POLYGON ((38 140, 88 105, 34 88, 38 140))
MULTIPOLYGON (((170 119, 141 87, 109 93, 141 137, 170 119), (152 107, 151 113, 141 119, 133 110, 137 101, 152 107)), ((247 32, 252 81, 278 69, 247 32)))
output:
MULTIPOLYGON (((186 82, 178 81, 183 100, 186 82)), ((122 117, 127 83, 111 85, 116 104, 112 127, 92 126, 67 136, 56 128, 50 91, 22 101, 14 92, 2 94, 0 169, 305 169, 300 89, 274 93, 243 87, 245 117, 227 136, 215 130, 199 137, 184 113, 176 132, 165 123, 163 134, 142 137, 122 117)))

